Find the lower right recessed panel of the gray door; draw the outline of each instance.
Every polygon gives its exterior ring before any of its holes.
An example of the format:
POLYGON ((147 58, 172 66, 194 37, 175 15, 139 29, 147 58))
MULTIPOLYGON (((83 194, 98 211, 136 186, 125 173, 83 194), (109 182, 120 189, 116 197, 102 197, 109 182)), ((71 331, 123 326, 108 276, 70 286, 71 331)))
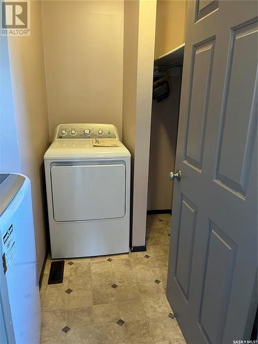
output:
POLYGON ((236 250, 236 244, 211 222, 200 304, 200 325, 211 343, 222 342, 236 250))

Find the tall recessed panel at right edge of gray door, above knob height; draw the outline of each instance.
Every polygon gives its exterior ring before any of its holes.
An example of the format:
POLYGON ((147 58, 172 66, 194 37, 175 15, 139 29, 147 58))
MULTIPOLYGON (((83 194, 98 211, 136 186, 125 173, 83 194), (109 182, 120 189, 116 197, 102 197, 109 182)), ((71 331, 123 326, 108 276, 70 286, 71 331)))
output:
POLYGON ((230 45, 216 178, 246 195, 249 158, 256 131, 253 124, 257 93, 257 23, 233 30, 230 45), (249 52, 247 56, 246 52, 249 52))

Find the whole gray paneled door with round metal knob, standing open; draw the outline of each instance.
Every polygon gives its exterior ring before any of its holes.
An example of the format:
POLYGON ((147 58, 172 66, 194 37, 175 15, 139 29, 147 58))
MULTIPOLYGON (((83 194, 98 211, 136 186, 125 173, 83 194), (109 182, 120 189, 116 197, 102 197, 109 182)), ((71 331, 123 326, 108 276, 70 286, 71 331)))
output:
POLYGON ((257 304, 256 1, 189 1, 175 169, 169 303, 187 343, 248 340, 257 304))

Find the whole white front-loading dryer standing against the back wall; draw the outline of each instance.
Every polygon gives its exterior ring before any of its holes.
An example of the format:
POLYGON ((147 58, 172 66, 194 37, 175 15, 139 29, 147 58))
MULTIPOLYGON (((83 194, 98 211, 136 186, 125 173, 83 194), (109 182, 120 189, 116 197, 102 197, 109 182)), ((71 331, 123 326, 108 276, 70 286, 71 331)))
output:
POLYGON ((131 155, 116 127, 58 125, 44 164, 52 258, 129 252, 131 155))

